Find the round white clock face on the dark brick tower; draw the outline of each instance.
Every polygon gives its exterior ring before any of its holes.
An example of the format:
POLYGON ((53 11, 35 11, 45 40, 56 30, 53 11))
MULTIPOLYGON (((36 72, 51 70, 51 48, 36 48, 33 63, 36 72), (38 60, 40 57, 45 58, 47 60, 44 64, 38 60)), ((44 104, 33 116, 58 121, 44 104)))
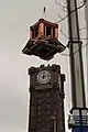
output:
POLYGON ((37 81, 41 84, 46 84, 51 79, 51 74, 47 70, 42 70, 37 75, 37 81))

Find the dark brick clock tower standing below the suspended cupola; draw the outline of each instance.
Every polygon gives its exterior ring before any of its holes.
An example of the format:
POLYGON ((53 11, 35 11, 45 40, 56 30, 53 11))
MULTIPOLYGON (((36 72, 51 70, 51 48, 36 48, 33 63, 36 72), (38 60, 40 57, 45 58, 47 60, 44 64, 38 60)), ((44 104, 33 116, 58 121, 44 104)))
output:
POLYGON ((31 67, 29 132, 65 132, 64 81, 59 65, 31 67))

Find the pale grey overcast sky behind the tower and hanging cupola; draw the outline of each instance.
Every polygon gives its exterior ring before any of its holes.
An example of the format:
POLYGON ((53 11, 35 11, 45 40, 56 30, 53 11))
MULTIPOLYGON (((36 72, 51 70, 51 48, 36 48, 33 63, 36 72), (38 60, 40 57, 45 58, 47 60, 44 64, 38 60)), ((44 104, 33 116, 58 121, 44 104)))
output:
MULTIPOLYGON (((57 22, 61 13, 62 16, 65 15, 54 0, 0 0, 0 132, 28 132, 30 86, 28 68, 41 64, 61 65, 62 73, 66 75, 67 120, 70 109, 68 57, 57 54, 52 61, 45 62, 22 54, 22 48, 29 40, 29 28, 43 16, 44 7, 47 20, 57 22)), ((67 33, 67 21, 59 23, 59 30, 67 33)), ((68 42, 62 33, 59 41, 64 45, 68 42)))

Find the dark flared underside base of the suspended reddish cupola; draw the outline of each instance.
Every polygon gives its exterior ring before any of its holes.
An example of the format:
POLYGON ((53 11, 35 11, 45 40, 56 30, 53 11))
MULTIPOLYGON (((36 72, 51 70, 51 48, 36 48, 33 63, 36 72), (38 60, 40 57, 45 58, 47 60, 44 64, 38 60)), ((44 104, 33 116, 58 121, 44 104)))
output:
POLYGON ((36 38, 30 38, 22 52, 26 55, 35 55, 42 59, 50 61, 56 53, 62 53, 65 48, 58 40, 40 35, 36 38))

